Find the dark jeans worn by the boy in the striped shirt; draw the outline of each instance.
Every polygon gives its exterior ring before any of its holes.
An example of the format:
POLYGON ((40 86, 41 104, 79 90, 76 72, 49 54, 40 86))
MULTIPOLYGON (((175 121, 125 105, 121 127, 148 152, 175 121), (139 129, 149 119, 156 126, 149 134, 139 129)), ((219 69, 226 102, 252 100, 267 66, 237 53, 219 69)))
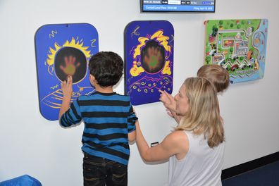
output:
POLYGON ((109 159, 84 153, 83 182, 85 186, 126 186, 127 166, 109 159))

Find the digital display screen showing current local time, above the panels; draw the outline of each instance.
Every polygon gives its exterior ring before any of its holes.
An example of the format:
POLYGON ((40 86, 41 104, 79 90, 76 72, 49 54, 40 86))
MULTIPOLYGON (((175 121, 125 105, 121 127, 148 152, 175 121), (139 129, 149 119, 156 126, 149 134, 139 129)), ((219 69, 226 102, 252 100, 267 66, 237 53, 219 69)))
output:
POLYGON ((215 12, 215 0, 141 0, 142 12, 215 12))

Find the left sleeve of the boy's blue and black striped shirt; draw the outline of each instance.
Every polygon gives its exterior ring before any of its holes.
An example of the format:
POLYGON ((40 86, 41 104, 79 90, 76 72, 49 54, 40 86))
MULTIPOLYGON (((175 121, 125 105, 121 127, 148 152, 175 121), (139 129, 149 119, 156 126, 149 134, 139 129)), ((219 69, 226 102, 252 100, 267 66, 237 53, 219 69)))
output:
POLYGON ((76 99, 70 104, 70 109, 61 116, 60 125, 63 127, 70 127, 71 125, 80 123, 81 120, 80 105, 78 104, 78 99, 76 99))

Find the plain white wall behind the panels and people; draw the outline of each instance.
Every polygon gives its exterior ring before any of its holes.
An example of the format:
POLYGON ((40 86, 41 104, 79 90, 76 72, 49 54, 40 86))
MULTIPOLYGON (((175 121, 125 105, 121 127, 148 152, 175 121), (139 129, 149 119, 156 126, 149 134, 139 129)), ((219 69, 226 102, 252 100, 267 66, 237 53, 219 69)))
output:
MULTIPOLYGON (((39 113, 34 37, 50 23, 90 23, 99 50, 123 56, 123 30, 133 20, 168 20, 175 28, 174 87, 194 76, 204 58, 206 19, 268 18, 265 76, 231 85, 220 96, 225 120, 224 168, 279 151, 278 0, 216 0, 216 13, 140 13, 139 0, 0 0, 0 181, 29 174, 43 185, 82 185, 83 124, 64 129, 39 113)), ((124 83, 116 88, 123 93, 124 83)), ((147 141, 175 124, 161 103, 136 106, 147 141), (156 111, 156 115, 154 115, 156 111)), ((163 185, 168 163, 146 164, 131 147, 129 185, 163 185)))

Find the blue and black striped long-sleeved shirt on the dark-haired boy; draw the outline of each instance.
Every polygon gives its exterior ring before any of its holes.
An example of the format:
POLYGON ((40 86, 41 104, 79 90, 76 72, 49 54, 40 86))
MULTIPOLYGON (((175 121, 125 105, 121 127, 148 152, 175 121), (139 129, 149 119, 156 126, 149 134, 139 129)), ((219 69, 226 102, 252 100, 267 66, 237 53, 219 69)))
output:
POLYGON ((128 132, 135 130, 137 120, 130 97, 115 92, 94 92, 90 96, 81 96, 61 116, 60 123, 69 127, 81 120, 85 123, 82 151, 128 164, 128 132))

